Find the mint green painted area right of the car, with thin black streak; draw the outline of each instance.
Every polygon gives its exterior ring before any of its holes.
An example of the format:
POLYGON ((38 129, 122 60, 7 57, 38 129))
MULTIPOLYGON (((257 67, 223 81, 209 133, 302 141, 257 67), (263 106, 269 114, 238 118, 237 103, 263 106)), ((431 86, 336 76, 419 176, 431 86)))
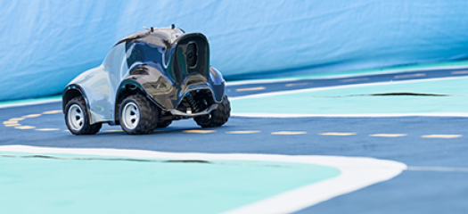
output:
POLYGON ((369 114, 468 112, 468 78, 439 79, 379 86, 352 86, 231 102, 235 113, 369 114), (393 92, 455 96, 370 96, 393 92), (357 95, 357 96, 341 96, 357 95))

